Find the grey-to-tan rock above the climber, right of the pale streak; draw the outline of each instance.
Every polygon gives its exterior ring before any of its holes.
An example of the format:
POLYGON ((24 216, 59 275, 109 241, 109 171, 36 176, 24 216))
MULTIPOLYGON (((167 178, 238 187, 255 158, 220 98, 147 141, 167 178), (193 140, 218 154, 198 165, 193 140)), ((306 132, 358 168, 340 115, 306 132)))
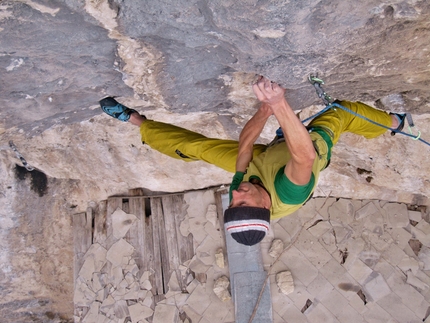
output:
POLYGON ((119 8, 127 34, 166 53, 160 80, 174 109, 228 109, 221 76, 236 71, 280 82, 296 108, 317 101, 305 85, 320 72, 337 97, 400 93, 408 108, 428 109, 426 1, 125 0, 119 8), (195 87, 207 91, 196 96, 195 87))

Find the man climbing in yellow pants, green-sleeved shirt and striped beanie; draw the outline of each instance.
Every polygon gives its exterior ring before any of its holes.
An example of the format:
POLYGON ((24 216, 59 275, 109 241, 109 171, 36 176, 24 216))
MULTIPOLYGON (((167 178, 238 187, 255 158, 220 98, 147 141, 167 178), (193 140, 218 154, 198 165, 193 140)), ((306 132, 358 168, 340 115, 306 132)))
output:
MULTIPOLYGON (((343 132, 375 138, 386 129, 342 109, 330 109, 305 127, 285 99, 285 89, 260 77, 253 91, 261 105, 246 123, 239 141, 207 138, 170 124, 146 119, 107 97, 100 101, 108 115, 140 128, 142 142, 184 161, 203 160, 234 173, 226 229, 239 243, 254 245, 269 229, 270 219, 299 209, 312 195, 331 148, 343 132), (283 132, 272 145, 255 144, 268 118, 274 115, 283 132)), ((388 114, 360 102, 336 101, 388 128, 403 128, 403 115, 388 114)))

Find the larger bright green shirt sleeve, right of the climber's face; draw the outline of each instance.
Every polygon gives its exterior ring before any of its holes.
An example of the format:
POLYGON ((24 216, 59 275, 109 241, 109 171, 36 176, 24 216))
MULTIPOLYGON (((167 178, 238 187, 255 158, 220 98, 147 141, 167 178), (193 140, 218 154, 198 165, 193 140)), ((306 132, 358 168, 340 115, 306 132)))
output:
POLYGON ((309 183, 305 185, 296 185, 291 182, 284 173, 284 167, 279 169, 275 177, 275 190, 282 203, 300 204, 306 201, 312 193, 315 186, 315 176, 312 173, 309 183))

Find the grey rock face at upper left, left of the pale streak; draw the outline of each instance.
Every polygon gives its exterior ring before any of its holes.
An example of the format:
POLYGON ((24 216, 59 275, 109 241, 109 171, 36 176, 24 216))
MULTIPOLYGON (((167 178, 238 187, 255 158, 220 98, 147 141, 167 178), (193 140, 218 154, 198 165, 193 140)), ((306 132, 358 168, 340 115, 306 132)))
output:
POLYGON ((132 95, 115 71, 115 41, 79 11, 60 1, 0 7, 3 128, 40 134, 52 124, 89 119, 106 90, 132 95))

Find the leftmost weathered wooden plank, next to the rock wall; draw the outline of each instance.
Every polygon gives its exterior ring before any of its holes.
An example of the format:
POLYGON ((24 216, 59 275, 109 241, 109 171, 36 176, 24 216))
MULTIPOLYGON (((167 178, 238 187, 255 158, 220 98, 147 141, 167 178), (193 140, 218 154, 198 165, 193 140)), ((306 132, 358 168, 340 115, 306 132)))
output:
POLYGON ((92 210, 72 216, 74 244, 74 281, 83 265, 83 257, 92 244, 92 210))

